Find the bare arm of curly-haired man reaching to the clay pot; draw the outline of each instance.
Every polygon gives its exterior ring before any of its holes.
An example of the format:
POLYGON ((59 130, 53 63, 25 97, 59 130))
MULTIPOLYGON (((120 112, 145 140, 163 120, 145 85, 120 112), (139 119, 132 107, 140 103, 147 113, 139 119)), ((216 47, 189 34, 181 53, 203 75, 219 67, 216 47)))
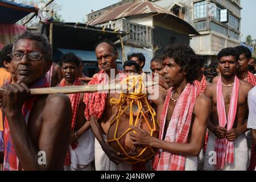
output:
POLYGON ((131 126, 131 129, 137 131, 137 134, 130 132, 131 140, 134 145, 151 146, 162 148, 176 155, 197 156, 204 143, 204 137, 207 130, 207 121, 210 115, 211 102, 205 96, 197 98, 194 114, 195 120, 192 126, 192 135, 189 143, 173 143, 150 137, 144 130, 131 126), (201 109, 204 108, 204 109, 201 109))

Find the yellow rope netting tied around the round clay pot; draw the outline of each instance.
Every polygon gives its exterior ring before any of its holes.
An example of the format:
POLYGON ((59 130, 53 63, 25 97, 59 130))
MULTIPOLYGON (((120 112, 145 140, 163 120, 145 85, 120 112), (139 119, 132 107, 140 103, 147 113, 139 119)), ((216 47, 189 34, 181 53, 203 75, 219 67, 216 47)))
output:
MULTIPOLYGON (((154 155, 154 150, 150 146, 147 146, 140 152, 139 155, 130 156, 129 154, 127 154, 125 149, 121 146, 119 140, 122 137, 124 137, 127 133, 132 131, 131 128, 129 128, 125 131, 125 133, 123 133, 120 137, 117 138, 117 131, 118 131, 118 126, 119 126, 119 122, 120 122, 119 118, 123 114, 125 114, 125 111, 127 109, 130 109, 130 113, 129 113, 130 114, 130 120, 129 120, 129 125, 130 126, 137 126, 138 127, 139 120, 143 117, 144 121, 146 121, 146 124, 147 124, 148 128, 151 131, 150 132, 151 137, 152 137, 152 135, 154 134, 155 131, 159 131, 159 130, 157 130, 157 127, 156 127, 156 125, 159 126, 159 123, 156 121, 155 110, 150 106, 150 104, 147 101, 146 88, 145 88, 145 85, 144 85, 143 80, 142 80, 143 76, 129 76, 129 77, 127 77, 121 83, 122 85, 127 84, 127 86, 128 86, 127 93, 125 94, 125 93, 121 92, 119 99, 116 99, 116 98, 111 98, 110 99, 110 104, 118 106, 118 113, 117 113, 116 117, 113 119, 113 121, 110 122, 110 126, 112 126, 114 124, 114 122, 117 122, 117 124, 115 126, 114 138, 109 139, 107 142, 117 142, 119 147, 121 148, 123 154, 125 154, 126 157, 127 157, 125 159, 134 161, 134 162, 130 162, 130 163, 146 162, 146 160, 150 159, 154 155), (127 106, 123 107, 125 104, 127 104, 127 106), (137 117, 135 119, 135 122, 134 122, 134 118, 133 118, 134 117, 134 115, 133 115, 134 114, 133 105, 137 105, 138 110, 139 110, 138 114, 137 114, 137 117), (146 115, 144 114, 143 105, 146 105, 146 109, 148 109, 148 111, 151 115, 152 121, 148 121, 146 115), (151 127, 150 122, 153 123, 153 128, 151 127), (149 148, 151 150, 152 155, 149 156, 146 159, 139 159, 139 157, 143 155, 143 153, 147 150, 147 148, 149 148)), ((133 132, 136 133, 135 131, 133 131, 133 132)))

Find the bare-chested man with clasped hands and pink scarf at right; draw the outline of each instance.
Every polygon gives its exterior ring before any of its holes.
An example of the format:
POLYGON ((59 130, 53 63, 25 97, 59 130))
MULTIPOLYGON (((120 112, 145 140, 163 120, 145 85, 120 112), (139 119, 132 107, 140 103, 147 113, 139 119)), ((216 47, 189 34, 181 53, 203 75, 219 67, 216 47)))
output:
POLYGON ((236 77, 239 55, 236 49, 225 48, 218 53, 221 77, 205 90, 212 100, 212 113, 204 169, 246 170, 247 94, 250 84, 236 77))

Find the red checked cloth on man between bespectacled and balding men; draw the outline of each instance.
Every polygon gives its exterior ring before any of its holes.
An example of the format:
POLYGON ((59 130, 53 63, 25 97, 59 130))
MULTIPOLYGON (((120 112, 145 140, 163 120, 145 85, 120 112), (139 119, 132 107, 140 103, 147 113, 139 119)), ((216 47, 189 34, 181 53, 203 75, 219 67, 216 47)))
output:
MULTIPOLYGON (((73 83, 73 86, 81 86, 81 85, 83 85, 83 83, 79 79, 76 79, 73 83)), ((66 86, 65 78, 63 78, 63 80, 61 80, 59 86, 66 86)), ((72 107, 72 113, 73 113, 72 122, 71 122, 71 130, 72 131, 75 130, 77 111, 79 110, 80 97, 81 97, 81 93, 69 94, 69 99, 71 101, 71 107, 72 107)), ((77 147, 77 145, 78 145, 77 142, 72 143, 71 144, 72 149, 74 150, 77 147)), ((70 152, 68 150, 66 158, 65 158, 64 166, 69 166, 70 163, 71 163, 71 156, 70 156, 70 152)))

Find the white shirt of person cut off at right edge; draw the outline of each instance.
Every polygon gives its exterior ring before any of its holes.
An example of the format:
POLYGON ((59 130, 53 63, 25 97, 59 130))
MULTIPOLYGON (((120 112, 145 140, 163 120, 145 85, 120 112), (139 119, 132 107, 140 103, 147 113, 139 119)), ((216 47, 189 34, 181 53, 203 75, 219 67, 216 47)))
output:
POLYGON ((247 128, 256 130, 256 86, 248 94, 249 117, 247 128))

